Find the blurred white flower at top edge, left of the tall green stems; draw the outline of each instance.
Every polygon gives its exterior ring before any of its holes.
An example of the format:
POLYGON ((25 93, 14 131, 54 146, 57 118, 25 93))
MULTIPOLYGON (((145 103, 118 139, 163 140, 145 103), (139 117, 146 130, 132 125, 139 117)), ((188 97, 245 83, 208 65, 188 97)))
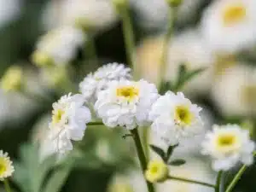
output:
POLYGON ((111 0, 64 0, 61 23, 82 28, 103 29, 117 20, 111 0))

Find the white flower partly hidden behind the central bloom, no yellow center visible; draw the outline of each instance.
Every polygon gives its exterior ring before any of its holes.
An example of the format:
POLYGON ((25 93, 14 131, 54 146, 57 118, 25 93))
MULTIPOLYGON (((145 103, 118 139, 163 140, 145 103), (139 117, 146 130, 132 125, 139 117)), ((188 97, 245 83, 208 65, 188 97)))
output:
POLYGON ((95 102, 100 90, 107 89, 109 82, 120 79, 131 79, 131 68, 123 64, 109 63, 98 68, 95 73, 89 73, 79 84, 79 90, 85 100, 95 102))

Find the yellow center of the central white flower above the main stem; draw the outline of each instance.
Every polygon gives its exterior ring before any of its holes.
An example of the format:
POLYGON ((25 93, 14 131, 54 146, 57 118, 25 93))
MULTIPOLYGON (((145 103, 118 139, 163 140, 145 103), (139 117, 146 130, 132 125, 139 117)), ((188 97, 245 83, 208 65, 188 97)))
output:
POLYGON ((125 97, 125 99, 131 102, 139 94, 139 90, 134 86, 124 86, 116 90, 116 95, 125 97))

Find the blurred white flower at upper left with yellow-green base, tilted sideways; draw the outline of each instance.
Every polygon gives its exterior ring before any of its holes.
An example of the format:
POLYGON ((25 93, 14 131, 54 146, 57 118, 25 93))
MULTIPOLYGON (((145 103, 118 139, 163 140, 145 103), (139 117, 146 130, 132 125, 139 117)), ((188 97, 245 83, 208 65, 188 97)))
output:
POLYGON ((38 66, 49 64, 65 65, 73 60, 77 49, 85 40, 84 32, 72 26, 61 26, 39 39, 32 54, 32 61, 38 66))

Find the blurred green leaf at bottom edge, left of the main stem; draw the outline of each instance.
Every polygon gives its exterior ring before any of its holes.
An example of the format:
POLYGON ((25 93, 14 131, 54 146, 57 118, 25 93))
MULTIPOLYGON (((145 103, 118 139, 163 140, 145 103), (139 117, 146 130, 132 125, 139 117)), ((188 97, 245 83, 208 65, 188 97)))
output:
POLYGON ((63 166, 55 170, 45 185, 44 192, 59 192, 71 172, 72 166, 63 166))

